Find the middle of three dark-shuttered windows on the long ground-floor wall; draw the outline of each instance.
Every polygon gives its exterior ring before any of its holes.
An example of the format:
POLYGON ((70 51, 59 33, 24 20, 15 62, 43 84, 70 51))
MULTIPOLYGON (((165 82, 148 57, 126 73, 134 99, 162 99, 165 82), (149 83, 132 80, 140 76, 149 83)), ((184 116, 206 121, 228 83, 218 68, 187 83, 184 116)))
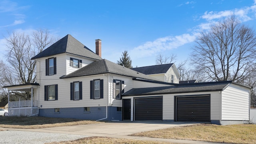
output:
POLYGON ((70 83, 70 100, 82 100, 82 82, 70 83))

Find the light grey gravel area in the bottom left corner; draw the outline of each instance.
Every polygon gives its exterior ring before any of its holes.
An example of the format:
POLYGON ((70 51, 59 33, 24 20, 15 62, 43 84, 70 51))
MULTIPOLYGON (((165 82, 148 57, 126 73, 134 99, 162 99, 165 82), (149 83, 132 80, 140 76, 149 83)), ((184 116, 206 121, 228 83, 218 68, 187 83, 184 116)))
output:
POLYGON ((0 131, 0 144, 44 144, 47 142, 61 142, 85 137, 88 136, 4 130, 0 131))

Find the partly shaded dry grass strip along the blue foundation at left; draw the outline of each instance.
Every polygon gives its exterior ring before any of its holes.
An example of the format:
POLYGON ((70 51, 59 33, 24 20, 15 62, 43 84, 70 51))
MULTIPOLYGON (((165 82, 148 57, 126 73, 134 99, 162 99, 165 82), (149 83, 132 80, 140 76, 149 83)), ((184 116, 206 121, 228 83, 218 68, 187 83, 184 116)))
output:
POLYGON ((2 128, 50 128, 58 126, 74 126, 82 124, 97 124, 100 122, 91 120, 79 120, 72 118, 46 118, 46 117, 0 117, 2 128))

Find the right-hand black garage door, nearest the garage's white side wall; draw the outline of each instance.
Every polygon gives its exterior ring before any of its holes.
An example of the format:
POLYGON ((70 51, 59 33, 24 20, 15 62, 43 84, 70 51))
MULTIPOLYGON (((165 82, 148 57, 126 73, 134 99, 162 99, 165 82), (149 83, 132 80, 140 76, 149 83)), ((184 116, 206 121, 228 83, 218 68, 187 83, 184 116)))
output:
POLYGON ((176 121, 210 122, 210 95, 176 96, 176 121))

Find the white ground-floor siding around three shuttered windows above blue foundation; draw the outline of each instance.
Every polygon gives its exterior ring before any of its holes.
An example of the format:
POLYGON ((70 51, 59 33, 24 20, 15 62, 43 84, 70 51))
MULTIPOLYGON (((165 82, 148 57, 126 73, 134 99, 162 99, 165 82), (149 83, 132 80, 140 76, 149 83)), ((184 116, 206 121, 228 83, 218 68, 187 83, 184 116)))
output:
POLYGON ((107 106, 107 76, 81 76, 76 78, 59 79, 54 82, 42 82, 39 88, 39 106, 42 108, 71 108, 71 107, 95 107, 107 106), (90 99, 90 80, 103 79, 104 98, 90 99), (70 83, 80 81, 82 82, 82 100, 70 100, 70 83), (44 85, 58 84, 58 100, 44 101, 44 85))

